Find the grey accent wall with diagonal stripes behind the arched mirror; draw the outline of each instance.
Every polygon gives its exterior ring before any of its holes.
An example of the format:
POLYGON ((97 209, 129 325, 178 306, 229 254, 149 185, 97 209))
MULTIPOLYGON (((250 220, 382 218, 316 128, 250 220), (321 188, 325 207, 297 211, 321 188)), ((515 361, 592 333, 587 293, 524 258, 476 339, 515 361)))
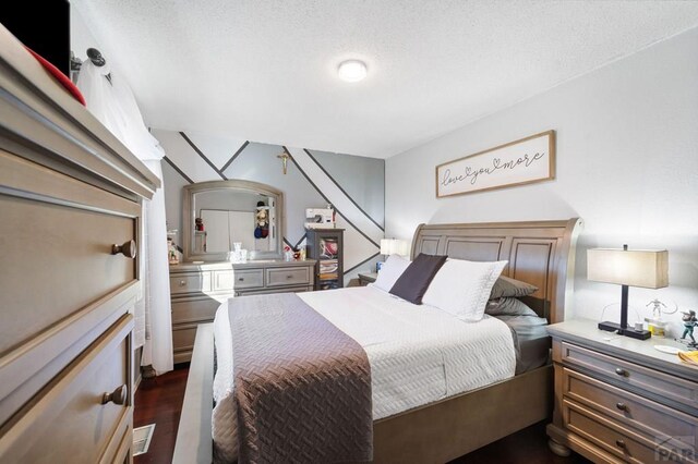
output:
MULTIPOLYGON (((324 208, 332 203, 332 198, 325 198, 328 194, 322 188, 328 183, 339 185, 365 216, 380 225, 384 224, 385 161, 382 159, 308 150, 324 171, 321 179, 318 174, 303 172, 292 160, 288 161, 287 173, 284 174, 278 158, 284 148, 278 145, 157 129, 152 133, 166 152, 163 161, 166 213, 168 228, 180 231, 176 237, 179 245, 183 227, 182 187, 192 182, 224 178, 261 182, 281 191, 286 218, 284 235, 292 245, 303 243, 305 208, 324 208), (311 175, 313 178, 308 179, 311 175)), ((347 274, 348 280, 358 272, 374 269, 380 256, 375 241, 368 239, 354 225, 358 221, 341 215, 339 211, 338 225, 346 229, 345 268, 353 268, 347 274)))

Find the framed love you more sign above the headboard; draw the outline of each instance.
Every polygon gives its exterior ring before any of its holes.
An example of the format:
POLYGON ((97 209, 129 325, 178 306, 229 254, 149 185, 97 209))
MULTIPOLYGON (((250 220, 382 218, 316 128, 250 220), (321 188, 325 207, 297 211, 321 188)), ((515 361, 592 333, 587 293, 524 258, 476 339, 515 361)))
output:
POLYGON ((510 142, 436 167, 436 197, 555 179, 555 131, 510 142))

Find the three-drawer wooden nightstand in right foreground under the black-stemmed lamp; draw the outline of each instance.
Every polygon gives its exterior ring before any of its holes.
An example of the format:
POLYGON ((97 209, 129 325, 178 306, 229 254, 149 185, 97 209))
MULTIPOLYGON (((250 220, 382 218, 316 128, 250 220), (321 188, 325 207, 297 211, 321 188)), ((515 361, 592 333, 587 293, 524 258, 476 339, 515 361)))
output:
POLYGON ((591 320, 549 327, 555 411, 551 449, 594 462, 695 463, 698 460, 698 368, 654 345, 604 332, 591 320))

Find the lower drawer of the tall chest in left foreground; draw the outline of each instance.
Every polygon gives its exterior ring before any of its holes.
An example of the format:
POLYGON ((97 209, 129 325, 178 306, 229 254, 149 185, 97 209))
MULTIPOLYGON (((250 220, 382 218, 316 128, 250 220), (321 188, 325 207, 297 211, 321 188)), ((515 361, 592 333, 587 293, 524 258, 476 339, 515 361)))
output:
POLYGON ((111 461, 105 453, 132 427, 132 328, 124 315, 5 423, 0 462, 111 461), (121 386, 124 403, 103 404, 121 386))

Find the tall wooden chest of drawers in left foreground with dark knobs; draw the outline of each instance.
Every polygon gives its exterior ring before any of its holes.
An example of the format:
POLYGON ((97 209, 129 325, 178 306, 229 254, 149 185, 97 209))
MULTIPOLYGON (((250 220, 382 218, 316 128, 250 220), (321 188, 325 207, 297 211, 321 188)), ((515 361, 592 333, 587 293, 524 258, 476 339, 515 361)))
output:
POLYGON ((134 241, 158 183, 0 26, 0 462, 132 461, 134 241))

